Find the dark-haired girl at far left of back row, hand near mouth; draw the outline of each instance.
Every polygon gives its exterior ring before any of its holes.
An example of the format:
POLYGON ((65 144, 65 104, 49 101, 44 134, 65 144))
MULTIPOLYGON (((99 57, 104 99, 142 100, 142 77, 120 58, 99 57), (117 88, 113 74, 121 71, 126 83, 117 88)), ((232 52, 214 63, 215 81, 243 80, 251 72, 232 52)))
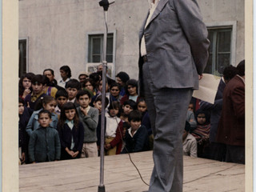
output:
POLYGON ((34 77, 33 73, 23 74, 18 82, 18 96, 22 99, 32 92, 31 79, 34 77))

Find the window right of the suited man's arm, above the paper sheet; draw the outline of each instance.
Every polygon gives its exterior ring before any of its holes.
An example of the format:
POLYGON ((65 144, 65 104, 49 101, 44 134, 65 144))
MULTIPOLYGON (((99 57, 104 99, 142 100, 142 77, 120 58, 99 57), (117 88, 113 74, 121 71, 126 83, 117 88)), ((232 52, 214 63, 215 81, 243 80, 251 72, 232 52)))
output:
POLYGON ((208 27, 209 59, 204 73, 222 76, 226 66, 234 65, 235 23, 208 27))

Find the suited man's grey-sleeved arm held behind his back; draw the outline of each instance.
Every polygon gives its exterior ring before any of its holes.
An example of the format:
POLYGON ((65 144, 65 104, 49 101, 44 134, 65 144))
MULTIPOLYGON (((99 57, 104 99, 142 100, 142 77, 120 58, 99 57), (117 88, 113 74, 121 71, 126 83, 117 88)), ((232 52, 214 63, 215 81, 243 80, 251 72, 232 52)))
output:
POLYGON ((173 0, 178 20, 186 34, 198 74, 202 74, 208 60, 208 31, 196 0, 173 0))

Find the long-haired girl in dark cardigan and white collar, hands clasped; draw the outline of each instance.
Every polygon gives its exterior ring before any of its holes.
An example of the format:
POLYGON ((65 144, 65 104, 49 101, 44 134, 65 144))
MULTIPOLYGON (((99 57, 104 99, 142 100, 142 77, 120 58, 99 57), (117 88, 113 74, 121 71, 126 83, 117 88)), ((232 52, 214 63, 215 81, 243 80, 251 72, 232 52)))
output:
POLYGON ((62 107, 58 134, 62 146, 61 159, 80 158, 84 130, 73 102, 66 102, 62 107))

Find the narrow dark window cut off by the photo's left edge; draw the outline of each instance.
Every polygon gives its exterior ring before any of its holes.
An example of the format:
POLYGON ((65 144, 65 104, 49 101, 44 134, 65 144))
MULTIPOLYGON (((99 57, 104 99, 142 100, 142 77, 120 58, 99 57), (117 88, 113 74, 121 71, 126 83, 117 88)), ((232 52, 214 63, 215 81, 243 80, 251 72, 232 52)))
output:
POLYGON ((27 39, 18 40, 18 77, 27 72, 27 39))

